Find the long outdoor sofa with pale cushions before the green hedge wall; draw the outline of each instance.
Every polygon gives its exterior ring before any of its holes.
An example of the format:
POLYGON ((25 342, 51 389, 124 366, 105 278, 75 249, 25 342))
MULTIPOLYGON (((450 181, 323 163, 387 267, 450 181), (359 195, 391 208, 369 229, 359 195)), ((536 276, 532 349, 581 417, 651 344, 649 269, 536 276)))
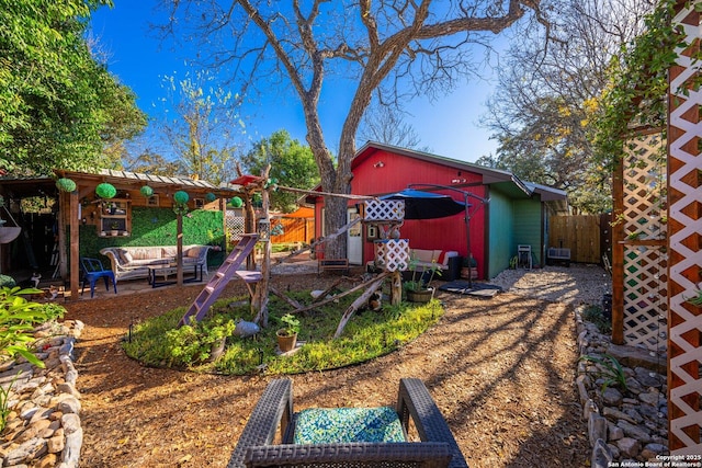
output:
MULTIPOLYGON (((183 246, 183 266, 202 265, 207 273, 210 246, 183 246)), ((114 277, 120 279, 148 278, 149 266, 176 262, 176 246, 106 247, 100 253, 112 263, 114 277)))

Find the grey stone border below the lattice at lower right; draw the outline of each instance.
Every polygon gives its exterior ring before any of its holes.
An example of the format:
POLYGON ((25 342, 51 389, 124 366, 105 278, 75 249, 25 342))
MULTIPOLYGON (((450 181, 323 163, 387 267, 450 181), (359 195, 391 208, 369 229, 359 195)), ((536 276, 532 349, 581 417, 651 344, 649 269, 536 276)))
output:
MULTIPOLYGON (((602 357, 613 345, 593 323, 582 320, 584 308, 576 308, 578 353, 602 357)), ((580 359, 576 386, 588 422, 592 468, 608 466, 648 466, 660 461, 668 449, 667 379, 655 370, 622 364, 626 391, 605 386, 601 377, 607 369, 599 363, 580 359)))

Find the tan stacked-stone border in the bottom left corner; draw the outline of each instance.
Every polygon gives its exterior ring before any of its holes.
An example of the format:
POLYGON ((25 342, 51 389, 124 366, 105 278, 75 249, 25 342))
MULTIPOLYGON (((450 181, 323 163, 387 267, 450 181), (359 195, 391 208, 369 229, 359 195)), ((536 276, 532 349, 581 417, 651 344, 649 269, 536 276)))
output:
POLYGON ((80 320, 67 320, 34 329, 33 346, 45 368, 22 358, 0 366, 0 386, 10 389, 1 466, 78 467, 83 432, 73 345, 83 327, 80 320))

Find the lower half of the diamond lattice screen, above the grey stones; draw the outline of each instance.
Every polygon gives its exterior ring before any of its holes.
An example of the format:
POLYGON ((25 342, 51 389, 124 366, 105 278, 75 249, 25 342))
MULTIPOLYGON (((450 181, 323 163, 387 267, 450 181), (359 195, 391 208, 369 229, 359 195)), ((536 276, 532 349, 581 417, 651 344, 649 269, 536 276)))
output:
POLYGON ((667 262, 665 248, 624 249, 624 340, 660 352, 667 342, 667 262))

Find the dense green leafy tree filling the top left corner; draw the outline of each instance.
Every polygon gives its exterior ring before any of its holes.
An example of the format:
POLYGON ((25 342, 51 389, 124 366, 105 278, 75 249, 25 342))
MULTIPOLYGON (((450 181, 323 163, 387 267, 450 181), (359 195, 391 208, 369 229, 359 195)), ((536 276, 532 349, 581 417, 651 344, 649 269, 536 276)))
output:
POLYGON ((91 54, 90 14, 109 0, 0 0, 0 165, 94 168, 146 124, 134 93, 91 54))

